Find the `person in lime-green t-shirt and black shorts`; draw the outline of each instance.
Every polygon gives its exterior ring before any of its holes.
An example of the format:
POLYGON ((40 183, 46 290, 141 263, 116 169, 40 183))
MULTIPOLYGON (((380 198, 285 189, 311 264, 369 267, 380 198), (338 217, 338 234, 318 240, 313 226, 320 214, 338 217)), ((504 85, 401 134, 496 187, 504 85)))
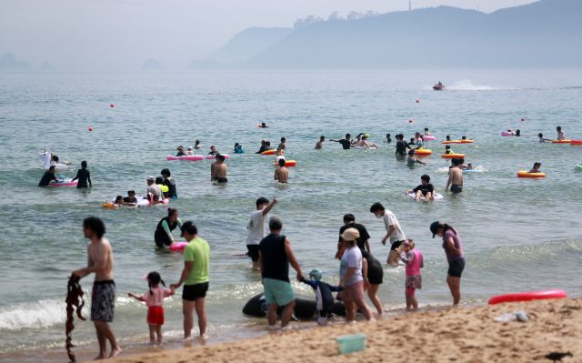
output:
POLYGON ((198 236, 198 228, 192 221, 186 221, 182 225, 182 237, 188 241, 184 248, 184 269, 178 282, 171 284, 170 288, 177 288, 184 284, 182 289, 184 338, 191 338, 195 309, 200 338, 207 338, 205 298, 210 280, 210 247, 206 240, 198 236))

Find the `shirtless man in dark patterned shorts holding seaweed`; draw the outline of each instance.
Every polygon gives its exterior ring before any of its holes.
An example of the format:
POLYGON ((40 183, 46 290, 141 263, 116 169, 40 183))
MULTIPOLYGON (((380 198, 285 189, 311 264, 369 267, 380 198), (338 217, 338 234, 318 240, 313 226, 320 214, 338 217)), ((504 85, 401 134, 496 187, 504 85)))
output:
POLYGON ((109 341, 111 353, 109 358, 117 357, 121 348, 109 323, 115 312, 115 282, 113 280, 113 249, 105 237, 105 224, 97 217, 87 217, 83 221, 83 233, 90 242, 87 245, 87 266, 73 271, 74 277, 83 278, 95 273, 93 293, 91 294, 91 320, 95 324, 99 355, 95 359, 107 358, 109 341))

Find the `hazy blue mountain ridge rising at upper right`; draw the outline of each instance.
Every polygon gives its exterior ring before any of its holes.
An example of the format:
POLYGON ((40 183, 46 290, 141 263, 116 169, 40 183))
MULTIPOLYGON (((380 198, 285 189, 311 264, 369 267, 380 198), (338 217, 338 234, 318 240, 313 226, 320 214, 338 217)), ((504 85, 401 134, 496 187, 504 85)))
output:
MULTIPOLYGON (((261 39, 277 37, 267 33, 247 34, 253 47, 246 50, 254 55, 233 51, 214 60, 221 67, 299 69, 582 65, 580 0, 541 0, 491 14, 439 6, 328 20, 296 27, 260 49, 261 39)), ((223 49, 236 49, 235 41, 223 49)))

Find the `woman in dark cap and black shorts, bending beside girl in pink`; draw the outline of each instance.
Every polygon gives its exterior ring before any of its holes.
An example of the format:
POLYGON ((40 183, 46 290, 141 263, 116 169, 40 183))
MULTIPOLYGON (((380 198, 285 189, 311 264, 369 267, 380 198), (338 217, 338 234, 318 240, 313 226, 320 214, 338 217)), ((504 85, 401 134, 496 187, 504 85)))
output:
POLYGON ((458 305, 461 300, 461 274, 465 269, 463 241, 457 229, 450 227, 447 223, 433 222, 430 225, 430 231, 433 238, 443 237, 443 248, 448 262, 447 285, 453 296, 453 305, 458 305))

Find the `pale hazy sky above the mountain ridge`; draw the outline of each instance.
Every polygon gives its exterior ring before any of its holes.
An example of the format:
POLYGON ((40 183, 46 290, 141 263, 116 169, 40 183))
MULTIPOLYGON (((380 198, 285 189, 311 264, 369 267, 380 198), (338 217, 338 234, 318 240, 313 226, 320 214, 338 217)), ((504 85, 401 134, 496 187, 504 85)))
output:
MULTIPOLYGON (((533 0, 413 0, 492 12, 533 0)), ((38 66, 138 68, 156 58, 184 68, 251 26, 354 10, 405 10, 408 0, 0 0, 0 55, 38 66)))

